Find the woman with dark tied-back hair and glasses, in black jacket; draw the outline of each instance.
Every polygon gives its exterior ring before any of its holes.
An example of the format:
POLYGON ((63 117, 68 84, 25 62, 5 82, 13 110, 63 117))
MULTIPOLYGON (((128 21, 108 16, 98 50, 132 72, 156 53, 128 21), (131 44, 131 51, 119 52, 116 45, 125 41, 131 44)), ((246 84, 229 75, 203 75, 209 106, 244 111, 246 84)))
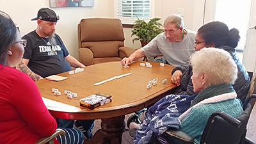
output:
MULTIPOLYGON (((195 36, 195 50, 200 51, 204 47, 216 47, 229 52, 235 61, 238 72, 236 82, 233 84, 237 97, 244 102, 250 88, 250 78, 243 63, 237 58, 236 50, 240 36, 235 28, 228 30, 223 22, 209 22, 198 29, 195 36)), ((175 67, 172 71, 172 83, 179 86, 177 94, 193 95, 193 83, 191 81, 192 68, 189 65, 175 67)))

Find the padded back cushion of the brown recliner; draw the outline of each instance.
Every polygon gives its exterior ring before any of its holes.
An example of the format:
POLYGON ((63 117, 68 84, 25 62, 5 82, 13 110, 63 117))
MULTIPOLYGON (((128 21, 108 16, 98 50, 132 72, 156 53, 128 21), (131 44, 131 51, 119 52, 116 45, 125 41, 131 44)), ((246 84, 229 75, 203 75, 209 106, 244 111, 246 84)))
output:
POLYGON ((124 46, 124 31, 120 19, 93 18, 80 21, 81 47, 88 47, 93 58, 118 57, 118 47, 124 46))

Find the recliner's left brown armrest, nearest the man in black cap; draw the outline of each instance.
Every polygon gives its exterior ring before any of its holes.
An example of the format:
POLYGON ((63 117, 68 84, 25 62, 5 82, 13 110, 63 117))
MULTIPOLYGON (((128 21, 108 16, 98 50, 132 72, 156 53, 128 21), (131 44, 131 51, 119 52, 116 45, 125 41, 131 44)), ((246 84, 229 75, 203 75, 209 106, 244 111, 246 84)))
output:
POLYGON ((93 53, 90 49, 82 47, 79 48, 79 61, 85 66, 93 65, 93 53))

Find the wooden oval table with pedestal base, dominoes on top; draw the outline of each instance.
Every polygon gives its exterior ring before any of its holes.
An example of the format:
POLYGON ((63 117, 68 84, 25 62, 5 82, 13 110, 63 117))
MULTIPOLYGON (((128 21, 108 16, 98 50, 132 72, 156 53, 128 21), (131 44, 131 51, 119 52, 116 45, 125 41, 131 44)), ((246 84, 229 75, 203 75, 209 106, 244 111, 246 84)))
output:
MULTIPOLYGON (((101 129, 95 133, 93 139, 84 143, 121 143, 122 132, 125 129, 126 114, 138 111, 157 102, 167 94, 172 93, 175 85, 170 83, 172 65, 161 67, 153 63, 152 68, 140 66, 141 62, 134 62, 124 68, 120 61, 100 63, 84 68, 83 72, 69 75, 68 72, 58 76, 68 77, 63 81, 49 81, 42 79, 36 85, 52 116, 70 120, 101 119, 101 129), (129 76, 114 79, 95 86, 95 83, 114 76, 132 73, 129 76), (147 89, 148 81, 158 79, 157 85, 147 89), (162 81, 167 79, 167 83, 162 81), (55 96, 52 88, 57 88, 61 96, 55 96), (77 93, 77 98, 68 99, 65 90, 77 93), (108 93, 112 102, 99 106, 93 110, 79 106, 79 100, 94 93, 108 93)), ((143 62, 144 63, 144 62, 143 62)))

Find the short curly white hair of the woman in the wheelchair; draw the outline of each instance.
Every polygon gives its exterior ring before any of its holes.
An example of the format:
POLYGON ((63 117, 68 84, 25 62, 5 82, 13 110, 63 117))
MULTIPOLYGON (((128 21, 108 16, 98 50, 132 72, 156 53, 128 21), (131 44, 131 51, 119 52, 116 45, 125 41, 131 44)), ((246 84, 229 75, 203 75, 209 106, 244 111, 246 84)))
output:
POLYGON ((207 84, 234 84, 237 79, 237 65, 230 54, 223 49, 204 48, 190 57, 193 74, 207 74, 207 84))

